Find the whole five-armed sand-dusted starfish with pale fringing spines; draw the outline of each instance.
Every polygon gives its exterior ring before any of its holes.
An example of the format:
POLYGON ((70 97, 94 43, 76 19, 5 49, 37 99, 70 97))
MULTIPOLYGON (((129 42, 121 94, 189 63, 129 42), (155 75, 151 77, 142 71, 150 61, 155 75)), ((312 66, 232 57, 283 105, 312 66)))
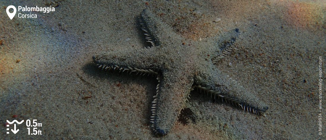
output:
POLYGON ((144 9, 139 21, 149 47, 104 52, 93 59, 102 70, 156 77, 158 84, 150 117, 156 135, 166 135, 170 131, 194 89, 212 99, 221 99, 247 112, 265 116, 268 106, 215 66, 236 45, 239 29, 219 38, 185 45, 183 41, 186 39, 173 32, 150 10, 144 9))

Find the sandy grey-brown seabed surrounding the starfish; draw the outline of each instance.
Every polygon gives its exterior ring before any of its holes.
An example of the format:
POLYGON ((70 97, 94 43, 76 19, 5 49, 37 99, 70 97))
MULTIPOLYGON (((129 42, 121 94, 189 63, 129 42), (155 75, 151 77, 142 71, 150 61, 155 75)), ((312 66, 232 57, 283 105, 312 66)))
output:
POLYGON ((326 73, 324 0, 35 0, 0 6, 0 139, 326 139, 318 125, 318 114, 324 119, 325 113, 318 86, 320 56, 322 79, 326 73), (10 20, 9 5, 55 11, 10 20), (187 41, 239 28, 239 46, 217 67, 268 104, 267 117, 193 92, 186 107, 196 121, 176 122, 168 135, 156 137, 149 122, 155 78, 103 72, 92 60, 104 51, 142 49, 137 18, 146 7, 187 41), (7 134, 14 126, 6 120, 14 119, 37 119, 42 135, 28 135, 25 122, 17 134, 7 134))

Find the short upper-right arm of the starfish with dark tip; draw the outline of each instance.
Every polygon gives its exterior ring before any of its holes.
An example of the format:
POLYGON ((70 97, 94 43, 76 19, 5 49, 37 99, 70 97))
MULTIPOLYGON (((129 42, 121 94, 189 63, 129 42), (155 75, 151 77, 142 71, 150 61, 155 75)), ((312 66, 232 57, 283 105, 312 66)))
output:
POLYGON ((209 47, 211 50, 208 52, 212 52, 212 62, 215 64, 217 61, 226 57, 233 50, 233 47, 237 46, 236 39, 239 36, 239 29, 236 28, 229 32, 223 33, 223 35, 218 38, 209 39, 211 42, 209 44, 214 44, 214 47, 209 47))

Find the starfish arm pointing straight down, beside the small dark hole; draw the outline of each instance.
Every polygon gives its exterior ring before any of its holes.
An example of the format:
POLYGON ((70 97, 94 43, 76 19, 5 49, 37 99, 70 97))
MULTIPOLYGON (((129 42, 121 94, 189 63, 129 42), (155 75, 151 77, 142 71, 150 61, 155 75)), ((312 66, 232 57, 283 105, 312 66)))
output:
POLYGON ((193 79, 184 75, 175 77, 175 73, 163 72, 158 76, 156 95, 152 106, 152 129, 157 135, 167 134, 174 125, 190 93, 193 79))

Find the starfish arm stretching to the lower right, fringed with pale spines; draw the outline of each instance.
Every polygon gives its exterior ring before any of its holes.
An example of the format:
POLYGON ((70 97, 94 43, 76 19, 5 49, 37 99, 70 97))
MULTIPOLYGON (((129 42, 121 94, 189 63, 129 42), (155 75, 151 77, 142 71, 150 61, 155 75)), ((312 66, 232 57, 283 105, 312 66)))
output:
POLYGON ((199 73, 195 77, 195 82, 198 84, 195 88, 204 91, 213 99, 222 99, 222 101, 241 107, 247 112, 265 116, 265 111, 268 109, 264 102, 237 84, 229 75, 216 68, 199 73))

